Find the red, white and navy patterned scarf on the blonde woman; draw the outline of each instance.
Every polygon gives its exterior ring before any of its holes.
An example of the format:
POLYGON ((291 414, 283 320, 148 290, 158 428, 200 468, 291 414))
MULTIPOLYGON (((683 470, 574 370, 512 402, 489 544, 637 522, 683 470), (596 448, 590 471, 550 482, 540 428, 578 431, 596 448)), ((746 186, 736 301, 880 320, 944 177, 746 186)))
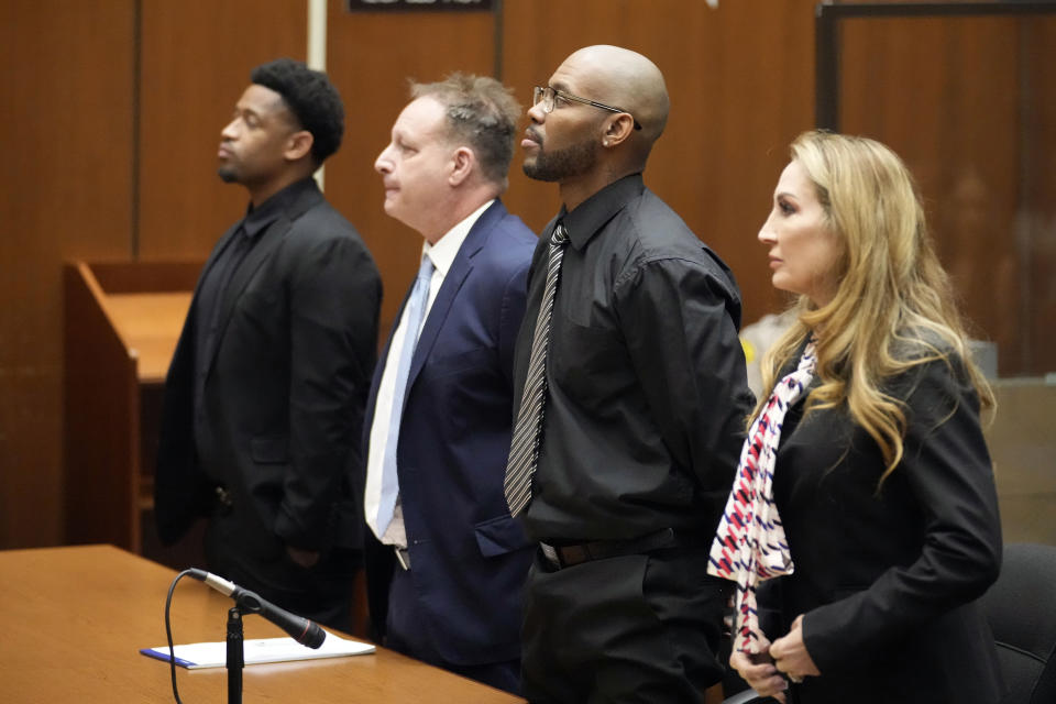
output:
POLYGON ((784 415, 811 385, 815 362, 812 337, 799 367, 778 382, 770 400, 748 429, 726 512, 712 543, 708 574, 737 582, 734 647, 743 652, 759 652, 756 584, 791 574, 794 569, 784 526, 773 503, 773 466, 784 415))

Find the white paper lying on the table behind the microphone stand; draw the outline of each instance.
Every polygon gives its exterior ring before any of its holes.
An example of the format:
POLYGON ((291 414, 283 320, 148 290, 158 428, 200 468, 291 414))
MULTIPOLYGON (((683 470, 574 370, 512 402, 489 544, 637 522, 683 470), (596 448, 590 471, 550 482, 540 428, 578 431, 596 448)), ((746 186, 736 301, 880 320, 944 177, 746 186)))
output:
MULTIPOLYGON (((191 642, 173 648, 176 664, 188 670, 198 668, 222 668, 228 662, 227 642, 191 642)), ((168 646, 144 648, 140 650, 150 658, 168 662, 168 646)), ((262 662, 286 662, 290 660, 314 660, 317 658, 340 658, 374 652, 374 646, 340 638, 327 632, 327 639, 319 648, 308 648, 293 638, 255 638, 242 644, 245 664, 262 662)))

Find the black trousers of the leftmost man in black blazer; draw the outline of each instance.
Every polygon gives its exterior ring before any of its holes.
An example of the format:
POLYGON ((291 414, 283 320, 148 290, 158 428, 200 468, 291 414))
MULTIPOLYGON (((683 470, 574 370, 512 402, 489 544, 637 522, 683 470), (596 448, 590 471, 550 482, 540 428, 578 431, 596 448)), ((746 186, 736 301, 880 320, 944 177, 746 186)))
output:
POLYGON ((359 551, 334 549, 302 568, 277 537, 245 525, 237 513, 218 510, 206 528, 206 562, 210 572, 286 610, 344 632, 352 629, 359 551))

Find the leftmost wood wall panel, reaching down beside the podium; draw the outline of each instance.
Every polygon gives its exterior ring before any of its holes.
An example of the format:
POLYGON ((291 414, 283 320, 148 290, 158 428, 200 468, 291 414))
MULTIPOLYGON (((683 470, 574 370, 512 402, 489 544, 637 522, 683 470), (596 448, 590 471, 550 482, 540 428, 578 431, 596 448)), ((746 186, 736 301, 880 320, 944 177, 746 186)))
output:
POLYGON ((62 538, 62 262, 128 256, 132 0, 0 3, 0 548, 62 538))

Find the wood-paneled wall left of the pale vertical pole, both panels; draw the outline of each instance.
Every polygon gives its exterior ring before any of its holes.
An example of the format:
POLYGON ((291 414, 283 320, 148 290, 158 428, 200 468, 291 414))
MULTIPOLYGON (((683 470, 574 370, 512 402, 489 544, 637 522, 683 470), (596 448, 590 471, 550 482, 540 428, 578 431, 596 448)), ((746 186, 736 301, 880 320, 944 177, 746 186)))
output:
POLYGON ((0 3, 0 548, 66 539, 62 263, 208 254, 245 207, 220 129, 306 28, 288 0, 0 3))

